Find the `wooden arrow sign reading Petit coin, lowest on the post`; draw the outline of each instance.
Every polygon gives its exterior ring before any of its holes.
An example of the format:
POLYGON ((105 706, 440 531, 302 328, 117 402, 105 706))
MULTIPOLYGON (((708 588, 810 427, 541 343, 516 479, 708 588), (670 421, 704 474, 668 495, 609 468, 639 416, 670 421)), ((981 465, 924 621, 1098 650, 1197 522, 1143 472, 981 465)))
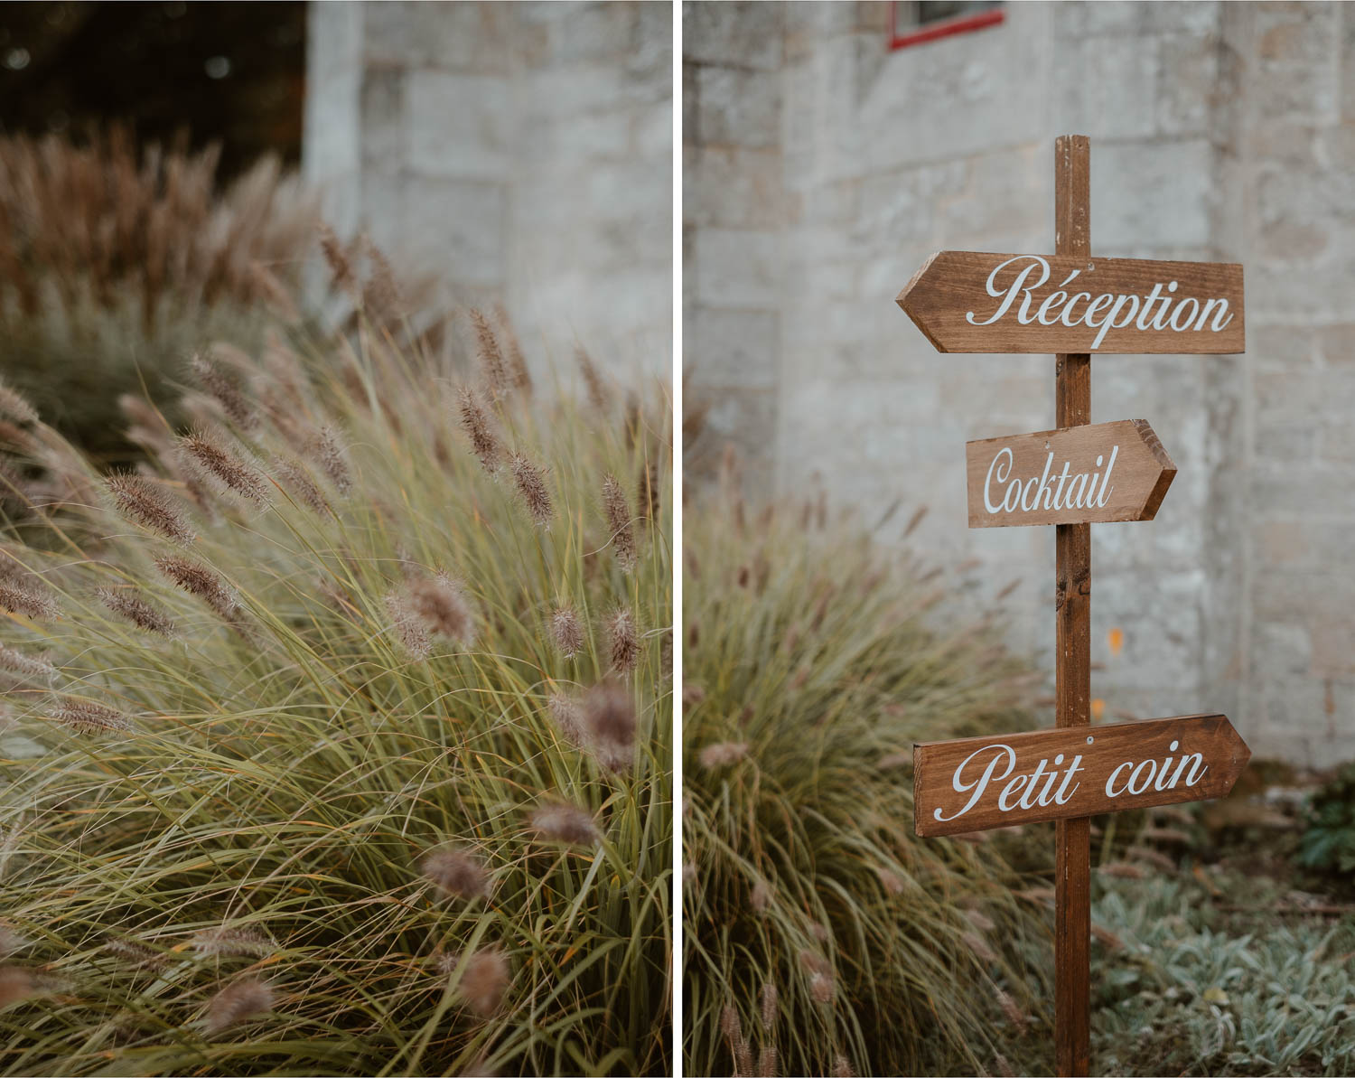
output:
POLYGON ((1222 715, 913 746, 919 835, 1222 797, 1251 750, 1222 715))

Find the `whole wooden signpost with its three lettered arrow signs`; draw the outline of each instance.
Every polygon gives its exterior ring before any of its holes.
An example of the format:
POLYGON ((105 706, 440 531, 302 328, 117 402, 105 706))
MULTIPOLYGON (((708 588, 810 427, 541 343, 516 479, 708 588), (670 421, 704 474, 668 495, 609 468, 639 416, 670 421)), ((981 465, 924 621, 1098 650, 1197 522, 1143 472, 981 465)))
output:
POLYGON ((1243 267, 1093 259, 1091 146, 1054 144, 1054 254, 940 251, 898 305, 944 353, 1054 353, 1056 430, 969 442, 970 527, 1056 527, 1056 728, 913 748, 913 827, 1054 822, 1054 1056, 1089 1070, 1098 812, 1226 795, 1251 753, 1222 715, 1091 725, 1091 525, 1150 521, 1176 465, 1141 419, 1091 426, 1095 353, 1240 353, 1243 267))

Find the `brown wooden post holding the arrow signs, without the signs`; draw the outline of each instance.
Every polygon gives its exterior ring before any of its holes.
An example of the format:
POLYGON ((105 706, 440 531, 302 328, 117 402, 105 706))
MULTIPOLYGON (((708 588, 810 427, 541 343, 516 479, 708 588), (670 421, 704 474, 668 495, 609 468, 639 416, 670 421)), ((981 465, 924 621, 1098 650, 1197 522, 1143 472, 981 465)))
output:
MULTIPOLYGON (((1091 256, 1091 146, 1087 136, 1054 142, 1054 254, 1091 256)), ((1054 426, 1091 423, 1088 353, 1054 357, 1054 426)), ((1091 723, 1092 545, 1089 523, 1061 523, 1057 570, 1056 724, 1091 723)), ((1091 1066, 1091 819, 1054 824, 1054 1056, 1057 1073, 1091 1066)))

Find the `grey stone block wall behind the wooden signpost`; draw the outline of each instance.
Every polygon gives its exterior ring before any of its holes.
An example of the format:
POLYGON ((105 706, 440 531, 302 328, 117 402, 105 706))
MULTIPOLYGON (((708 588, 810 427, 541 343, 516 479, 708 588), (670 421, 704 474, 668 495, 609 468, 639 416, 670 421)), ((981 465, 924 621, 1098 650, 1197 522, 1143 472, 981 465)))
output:
MULTIPOLYGON (((927 8, 894 12, 896 33, 927 8)), ((992 5, 985 5, 992 7, 992 5)), ((1092 529, 1103 719, 1226 711, 1355 757, 1355 8, 1022 3, 890 47, 886 3, 684 5, 684 362, 752 485, 827 488, 1004 601, 1051 668, 1053 530, 966 527, 963 442, 1053 426, 1047 357, 940 355, 894 296, 942 248, 1051 251, 1053 140, 1092 138, 1092 251, 1247 267, 1245 357, 1104 357, 1156 522, 1092 529)), ((1095 708, 1096 705, 1093 705, 1095 708)))

